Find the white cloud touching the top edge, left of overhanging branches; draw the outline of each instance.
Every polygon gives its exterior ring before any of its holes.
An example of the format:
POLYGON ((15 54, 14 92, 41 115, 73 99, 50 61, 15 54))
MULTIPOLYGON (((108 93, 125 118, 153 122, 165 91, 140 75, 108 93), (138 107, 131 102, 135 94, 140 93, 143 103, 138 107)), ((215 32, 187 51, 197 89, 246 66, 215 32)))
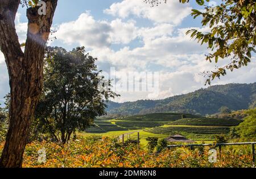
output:
POLYGON ((114 3, 109 9, 104 11, 106 14, 127 18, 129 15, 135 15, 141 18, 147 18, 156 23, 179 24, 191 13, 191 7, 188 4, 181 4, 179 1, 168 1, 158 7, 150 7, 149 4, 138 0, 123 0, 114 3))

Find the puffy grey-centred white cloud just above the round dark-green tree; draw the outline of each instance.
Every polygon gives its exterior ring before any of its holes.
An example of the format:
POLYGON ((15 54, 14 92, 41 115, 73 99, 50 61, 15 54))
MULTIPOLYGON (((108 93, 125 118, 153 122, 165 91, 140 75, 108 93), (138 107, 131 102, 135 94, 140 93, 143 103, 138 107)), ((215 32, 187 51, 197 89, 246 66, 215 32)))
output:
POLYGON ((86 11, 77 20, 61 24, 55 36, 66 44, 79 43, 85 47, 102 48, 111 44, 130 43, 137 38, 137 27, 134 20, 95 20, 89 11, 86 11))

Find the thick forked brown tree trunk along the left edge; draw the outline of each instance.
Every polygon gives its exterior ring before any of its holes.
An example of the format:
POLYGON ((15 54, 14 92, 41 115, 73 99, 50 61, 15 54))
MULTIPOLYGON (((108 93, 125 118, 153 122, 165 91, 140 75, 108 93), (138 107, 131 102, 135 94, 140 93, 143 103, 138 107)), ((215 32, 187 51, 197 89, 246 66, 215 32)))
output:
POLYGON ((23 53, 14 24, 19 2, 2 0, 0 5, 0 47, 11 89, 10 124, 0 167, 22 167, 30 125, 43 88, 44 49, 57 6, 57 0, 44 0, 46 15, 39 15, 38 7, 27 9, 28 31, 23 53))

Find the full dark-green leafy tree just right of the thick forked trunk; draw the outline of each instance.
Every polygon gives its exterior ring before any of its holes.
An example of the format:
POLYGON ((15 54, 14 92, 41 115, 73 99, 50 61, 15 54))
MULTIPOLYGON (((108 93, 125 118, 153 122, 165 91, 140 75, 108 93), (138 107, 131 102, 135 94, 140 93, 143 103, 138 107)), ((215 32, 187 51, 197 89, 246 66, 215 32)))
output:
POLYGON ((36 109, 39 128, 65 143, 76 130, 84 131, 96 116, 105 114, 105 102, 117 97, 104 87, 92 56, 84 47, 71 52, 48 48, 44 67, 44 89, 36 109), (59 138, 60 136, 60 138, 59 138))

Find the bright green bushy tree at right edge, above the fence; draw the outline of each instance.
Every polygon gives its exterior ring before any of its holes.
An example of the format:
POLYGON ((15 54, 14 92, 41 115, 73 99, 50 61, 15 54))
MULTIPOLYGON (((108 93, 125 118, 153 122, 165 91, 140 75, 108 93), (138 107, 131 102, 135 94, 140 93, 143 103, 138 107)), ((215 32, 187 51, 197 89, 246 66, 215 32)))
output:
POLYGON ((256 108, 246 112, 248 116, 235 127, 236 134, 242 139, 256 139, 256 108))

